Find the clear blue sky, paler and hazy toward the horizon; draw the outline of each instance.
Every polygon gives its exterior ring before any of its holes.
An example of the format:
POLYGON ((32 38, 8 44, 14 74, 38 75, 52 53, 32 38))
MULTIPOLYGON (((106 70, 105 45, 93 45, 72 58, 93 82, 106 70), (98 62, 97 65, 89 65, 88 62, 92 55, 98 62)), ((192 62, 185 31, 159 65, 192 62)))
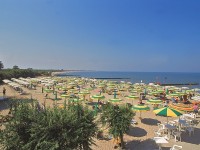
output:
POLYGON ((0 0, 4 68, 200 72, 200 0, 0 0))

